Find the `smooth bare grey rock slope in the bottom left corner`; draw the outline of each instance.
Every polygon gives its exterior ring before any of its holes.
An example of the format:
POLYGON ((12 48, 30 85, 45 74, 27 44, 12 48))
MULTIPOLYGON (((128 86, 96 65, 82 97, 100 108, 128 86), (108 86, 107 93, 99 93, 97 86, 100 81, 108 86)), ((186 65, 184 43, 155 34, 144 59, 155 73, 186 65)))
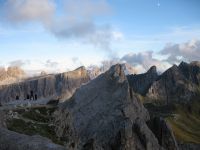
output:
POLYGON ((39 135, 28 136, 0 128, 1 150, 65 150, 60 145, 39 135))

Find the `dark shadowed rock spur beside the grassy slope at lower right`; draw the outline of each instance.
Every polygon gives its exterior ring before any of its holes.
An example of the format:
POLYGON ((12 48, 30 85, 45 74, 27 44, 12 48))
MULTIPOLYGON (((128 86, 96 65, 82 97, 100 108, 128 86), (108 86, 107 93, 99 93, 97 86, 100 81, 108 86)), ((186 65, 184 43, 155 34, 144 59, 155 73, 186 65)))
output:
POLYGON ((179 149, 173 132, 164 119, 154 117, 148 121, 148 126, 153 131, 162 147, 170 150, 179 149))

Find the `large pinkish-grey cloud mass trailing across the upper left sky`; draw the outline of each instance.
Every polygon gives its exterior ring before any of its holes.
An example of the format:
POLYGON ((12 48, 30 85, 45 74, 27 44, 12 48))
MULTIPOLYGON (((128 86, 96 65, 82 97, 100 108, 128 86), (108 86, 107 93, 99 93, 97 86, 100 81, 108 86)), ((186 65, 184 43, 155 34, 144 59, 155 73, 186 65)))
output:
POLYGON ((7 0, 0 6, 1 20, 11 25, 39 22, 57 38, 80 39, 104 50, 110 50, 113 37, 119 38, 110 25, 95 22, 96 17, 110 12, 106 0, 60 0, 62 6, 57 2, 7 0))

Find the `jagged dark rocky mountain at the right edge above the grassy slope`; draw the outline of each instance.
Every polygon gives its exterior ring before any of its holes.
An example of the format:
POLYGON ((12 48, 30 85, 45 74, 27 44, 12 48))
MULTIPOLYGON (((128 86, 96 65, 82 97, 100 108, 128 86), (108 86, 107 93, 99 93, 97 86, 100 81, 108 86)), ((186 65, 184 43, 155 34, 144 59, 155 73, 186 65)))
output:
POLYGON ((200 66, 197 62, 173 65, 159 76, 147 92, 154 100, 189 101, 200 86, 200 66))

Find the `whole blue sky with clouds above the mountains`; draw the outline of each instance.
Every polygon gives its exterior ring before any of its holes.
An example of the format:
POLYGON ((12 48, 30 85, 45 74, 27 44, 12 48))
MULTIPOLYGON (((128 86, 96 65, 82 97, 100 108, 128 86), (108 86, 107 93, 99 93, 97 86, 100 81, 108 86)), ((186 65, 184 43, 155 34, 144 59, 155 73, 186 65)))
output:
POLYGON ((105 60, 139 71, 200 60, 200 1, 0 0, 0 66, 62 72, 105 60))

